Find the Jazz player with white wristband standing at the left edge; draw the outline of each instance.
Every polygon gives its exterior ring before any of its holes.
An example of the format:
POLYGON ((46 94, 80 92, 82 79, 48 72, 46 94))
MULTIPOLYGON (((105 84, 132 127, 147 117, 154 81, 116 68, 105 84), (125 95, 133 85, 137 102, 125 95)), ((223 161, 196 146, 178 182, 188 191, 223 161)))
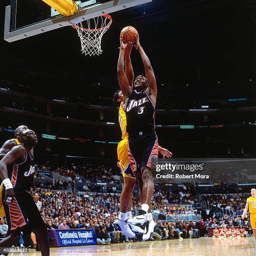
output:
POLYGON ((20 134, 22 144, 13 147, 0 161, 0 177, 5 189, 2 192, 10 236, 0 241, 0 247, 11 247, 20 239, 20 232, 32 229, 38 235, 42 256, 49 256, 49 240, 46 225, 29 194, 34 181, 33 147, 37 144, 36 134, 25 130, 20 134))

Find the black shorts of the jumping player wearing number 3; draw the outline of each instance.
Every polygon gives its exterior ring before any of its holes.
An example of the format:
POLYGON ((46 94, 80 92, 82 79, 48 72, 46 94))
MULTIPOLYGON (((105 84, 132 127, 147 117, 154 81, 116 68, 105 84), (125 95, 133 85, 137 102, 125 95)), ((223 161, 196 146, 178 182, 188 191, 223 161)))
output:
POLYGON ((143 134, 138 133, 133 136, 129 133, 128 138, 128 158, 134 176, 141 172, 141 167, 153 168, 157 164, 158 141, 155 132, 143 134))

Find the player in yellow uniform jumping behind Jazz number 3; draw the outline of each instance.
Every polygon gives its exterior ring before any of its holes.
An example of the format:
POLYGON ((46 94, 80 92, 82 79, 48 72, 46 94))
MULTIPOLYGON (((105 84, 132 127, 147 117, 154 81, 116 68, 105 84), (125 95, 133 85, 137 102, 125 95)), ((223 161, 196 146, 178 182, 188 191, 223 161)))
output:
MULTIPOLYGON (((131 65, 131 50, 133 45, 129 42, 125 49, 125 75, 127 76, 129 85, 133 87, 133 68, 131 65)), ((128 133, 126 131, 126 115, 125 115, 125 97, 121 90, 118 90, 113 95, 113 101, 115 104, 120 105, 119 108, 119 124, 122 131, 122 141, 118 143, 118 167, 121 169, 124 179, 124 187, 120 196, 120 213, 118 220, 113 225, 116 229, 122 231, 122 233, 129 237, 134 237, 136 233, 144 233, 144 230, 135 225, 128 225, 127 220, 132 218, 131 205, 132 205, 132 193, 135 186, 136 178, 133 175, 131 166, 128 159, 128 133), (132 232, 131 232, 132 230, 132 232)), ((172 153, 165 148, 158 147, 158 151, 165 157, 172 157, 172 153)), ((140 189, 140 194, 142 187, 140 189)), ((151 215, 149 213, 149 215, 151 215)))

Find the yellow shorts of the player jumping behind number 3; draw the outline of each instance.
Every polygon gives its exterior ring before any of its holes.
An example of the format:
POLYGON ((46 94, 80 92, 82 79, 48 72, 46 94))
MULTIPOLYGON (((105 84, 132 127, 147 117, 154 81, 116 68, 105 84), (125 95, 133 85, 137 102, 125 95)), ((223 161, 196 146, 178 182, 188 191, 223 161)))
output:
POLYGON ((121 169, 123 177, 135 179, 128 159, 128 138, 124 138, 118 143, 118 167, 121 169))

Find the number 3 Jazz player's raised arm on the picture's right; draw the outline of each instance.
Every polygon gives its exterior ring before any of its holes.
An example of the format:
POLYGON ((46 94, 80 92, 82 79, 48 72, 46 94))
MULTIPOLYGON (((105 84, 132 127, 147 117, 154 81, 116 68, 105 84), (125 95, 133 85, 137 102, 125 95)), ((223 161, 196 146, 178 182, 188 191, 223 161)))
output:
POLYGON ((143 62, 144 68, 145 68, 146 79, 148 82, 149 90, 150 90, 151 94, 153 94, 156 97, 156 95, 157 95, 156 77, 155 77, 153 68, 151 66, 151 63, 148 59, 148 56, 146 55, 145 51, 143 50, 143 48, 140 44, 139 36, 137 36, 136 45, 134 47, 141 54, 141 59, 142 59, 142 62, 143 62))

